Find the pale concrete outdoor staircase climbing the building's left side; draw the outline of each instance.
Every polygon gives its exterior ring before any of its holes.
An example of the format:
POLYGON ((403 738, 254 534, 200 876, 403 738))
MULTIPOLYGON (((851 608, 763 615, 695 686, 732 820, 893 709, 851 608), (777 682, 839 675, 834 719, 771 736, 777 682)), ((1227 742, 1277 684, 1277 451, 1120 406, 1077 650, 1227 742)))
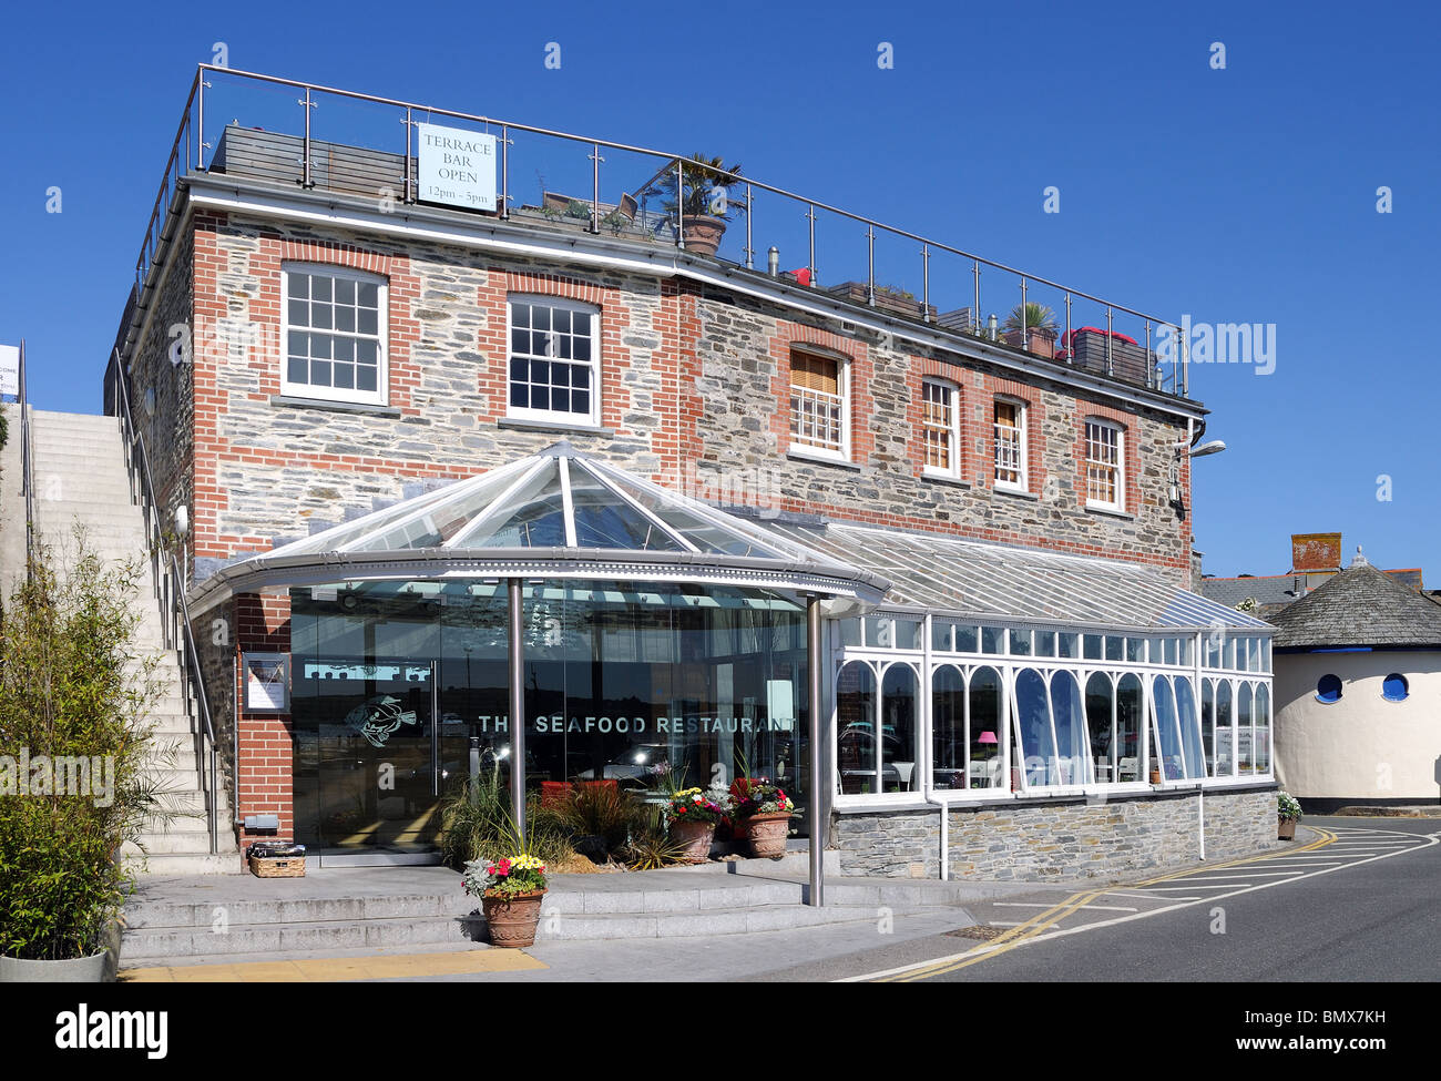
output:
MULTIPOLYGON (((164 688, 150 716, 156 731, 147 771, 161 784, 161 806, 176 817, 147 823, 138 848, 127 845, 121 852, 137 871, 148 873, 239 873, 241 860, 229 826, 223 778, 216 794, 219 853, 210 853, 200 774, 208 762, 193 735, 180 656, 166 649, 144 517, 130 499, 120 422, 114 417, 37 409, 30 418, 37 540, 52 549, 58 565, 63 565, 65 556, 75 552, 73 529, 78 523, 85 530, 86 545, 107 564, 138 558, 144 566, 135 598, 140 615, 137 647, 141 654, 157 657, 154 675, 164 688)), ((17 424, 13 430, 19 435, 17 424)))

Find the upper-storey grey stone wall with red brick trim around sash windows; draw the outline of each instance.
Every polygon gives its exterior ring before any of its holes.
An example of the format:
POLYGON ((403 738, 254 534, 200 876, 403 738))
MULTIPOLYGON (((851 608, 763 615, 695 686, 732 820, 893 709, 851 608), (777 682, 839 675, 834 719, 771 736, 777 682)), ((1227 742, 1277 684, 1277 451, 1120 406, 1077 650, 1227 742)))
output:
MULTIPOLYGON (((716 503, 1160 565, 1190 578, 1190 523, 1167 502, 1185 424, 960 353, 844 332, 782 306, 592 267, 537 265, 398 238, 197 215, 195 370, 197 577, 236 555, 367 513, 571 440, 667 487, 716 503), (389 404, 382 412, 280 399, 280 270, 354 267, 389 281, 389 404), (595 430, 506 419, 506 297, 539 293, 601 310, 602 418, 595 430), (795 343, 849 357, 852 461, 790 447, 795 343), (960 392, 961 476, 922 474, 921 379, 960 392), (991 399, 1025 398, 1029 489, 991 484, 991 399), (1125 512, 1085 509, 1087 417, 1125 428, 1125 512)), ((179 447, 180 444, 177 444, 179 447)), ((1189 463, 1182 460, 1182 493, 1189 463)))

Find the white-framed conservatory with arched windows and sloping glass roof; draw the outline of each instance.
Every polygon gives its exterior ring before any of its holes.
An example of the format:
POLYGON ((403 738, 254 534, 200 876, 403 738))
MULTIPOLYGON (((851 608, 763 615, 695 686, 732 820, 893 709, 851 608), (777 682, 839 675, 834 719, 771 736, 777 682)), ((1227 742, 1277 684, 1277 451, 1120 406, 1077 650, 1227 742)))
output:
POLYGON ((831 641, 839 806, 1271 775, 1271 627, 1110 559, 771 526, 885 575, 831 641))

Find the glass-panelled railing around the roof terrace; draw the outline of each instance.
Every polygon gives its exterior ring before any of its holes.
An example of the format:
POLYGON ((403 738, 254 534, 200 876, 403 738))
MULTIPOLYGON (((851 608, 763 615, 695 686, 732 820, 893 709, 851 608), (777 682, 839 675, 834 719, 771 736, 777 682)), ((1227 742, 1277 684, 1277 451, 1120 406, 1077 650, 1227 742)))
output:
POLYGON ((496 216, 501 219, 713 251, 715 258, 751 271, 757 270, 755 242, 764 229, 762 242, 769 248, 765 272, 891 316, 1003 340, 1042 359, 1189 396, 1180 324, 741 176, 739 166, 208 63, 197 66, 190 84, 117 346, 125 344, 130 319, 146 304, 150 274, 180 213, 176 195, 184 177, 212 167, 236 172, 226 159, 226 140, 264 133, 269 179, 285 177, 307 190, 369 196, 386 210, 418 202, 415 127, 434 120, 497 137, 496 216), (233 120, 218 131, 216 115, 233 120), (362 161, 352 153, 360 147, 378 153, 362 161), (522 169, 539 182, 535 203, 516 196, 522 169), (729 228, 715 239, 713 228, 693 216, 697 206, 719 212, 732 225, 744 219, 744 232, 729 228), (782 271, 780 252, 797 249, 806 254, 804 265, 782 271), (857 270, 852 280, 823 288, 821 267, 829 274, 831 265, 863 265, 865 275, 857 270), (919 297, 886 284, 908 278, 919 278, 919 297), (997 278, 1000 284, 991 284, 997 278), (999 317, 996 308, 983 316, 983 285, 984 300, 1000 308, 999 317))

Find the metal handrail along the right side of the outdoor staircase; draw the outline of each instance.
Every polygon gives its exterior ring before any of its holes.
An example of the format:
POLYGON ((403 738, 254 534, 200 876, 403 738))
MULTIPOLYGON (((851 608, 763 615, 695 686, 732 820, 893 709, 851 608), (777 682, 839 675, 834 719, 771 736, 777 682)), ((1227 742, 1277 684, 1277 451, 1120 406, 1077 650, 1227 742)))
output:
MULTIPOLYGON (((150 455, 146 453, 146 437, 135 427, 134 415, 130 411, 130 389, 125 385, 125 368, 121 362, 120 350, 111 355, 111 368, 115 372, 115 406, 121 424, 121 441, 125 445, 125 466, 131 476, 131 499, 140 503, 146 519, 146 538, 150 542, 150 561, 153 581, 156 585, 156 600, 163 602, 166 647, 179 649, 184 654, 184 676, 190 685, 190 693, 200 708, 203 731, 202 751, 209 754, 209 784, 206 787, 206 816, 210 824, 210 855, 219 850, 219 800, 218 800, 218 754, 215 741, 215 724, 210 716, 210 699, 205 690, 205 673, 200 670, 200 653, 195 644, 195 633, 190 627, 190 605, 186 604, 184 578, 180 565, 164 543, 164 533, 160 528, 160 503, 156 499, 156 483, 150 473, 150 455), (138 455, 138 467, 135 458, 138 455), (137 491, 137 480, 138 491, 137 491), (137 497, 138 496, 138 497, 137 497), (164 552, 164 559, 161 559, 164 552), (179 615, 179 627, 176 617, 179 615)), ((202 770, 202 777, 205 771, 202 770)))

